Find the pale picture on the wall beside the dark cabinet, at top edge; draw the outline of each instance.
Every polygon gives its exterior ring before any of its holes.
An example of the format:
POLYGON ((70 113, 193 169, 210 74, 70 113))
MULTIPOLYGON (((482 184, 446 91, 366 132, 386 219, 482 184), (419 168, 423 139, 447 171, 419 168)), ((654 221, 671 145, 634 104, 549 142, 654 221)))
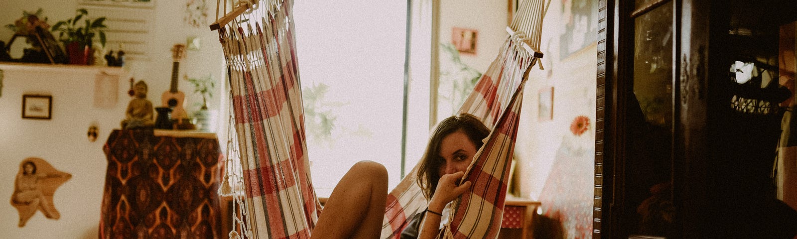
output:
POLYGON ((559 57, 564 59, 595 43, 598 28, 595 1, 563 0, 561 19, 564 32, 559 35, 559 57))

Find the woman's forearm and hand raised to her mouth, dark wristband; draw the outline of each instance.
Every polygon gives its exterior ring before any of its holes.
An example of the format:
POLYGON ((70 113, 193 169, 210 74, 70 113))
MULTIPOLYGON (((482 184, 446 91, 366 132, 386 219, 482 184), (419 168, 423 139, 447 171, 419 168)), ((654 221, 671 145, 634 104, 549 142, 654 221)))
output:
POLYGON ((463 182, 462 185, 457 186, 457 182, 462 178, 465 172, 457 172, 453 174, 446 174, 438 181, 438 188, 434 189, 434 196, 429 201, 429 207, 426 209, 426 217, 423 218, 421 224, 421 231, 418 233, 419 239, 431 239, 438 237, 440 233, 440 220, 442 219, 443 208, 449 202, 456 199, 462 193, 470 190, 470 182, 463 182))

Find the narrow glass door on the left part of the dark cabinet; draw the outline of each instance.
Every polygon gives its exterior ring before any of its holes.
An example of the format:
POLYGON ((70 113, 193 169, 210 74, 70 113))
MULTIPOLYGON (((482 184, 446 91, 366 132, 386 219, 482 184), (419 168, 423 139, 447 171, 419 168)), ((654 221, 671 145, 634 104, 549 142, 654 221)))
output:
MULTIPOLYGON (((626 103, 625 202, 621 225, 630 238, 672 237, 673 2, 636 0, 633 55, 620 80, 633 94, 626 103)), ((629 43, 630 45, 630 43, 629 43)))

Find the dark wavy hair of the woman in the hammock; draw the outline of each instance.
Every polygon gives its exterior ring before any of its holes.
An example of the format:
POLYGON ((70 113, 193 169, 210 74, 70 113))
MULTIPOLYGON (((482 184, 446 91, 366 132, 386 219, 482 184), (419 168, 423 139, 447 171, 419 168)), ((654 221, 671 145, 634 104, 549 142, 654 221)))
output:
POLYGON ((490 129, 484 123, 481 123, 481 119, 468 113, 450 116, 438 123, 438 126, 430 136, 429 144, 426 145, 426 151, 419 162, 420 167, 418 167, 418 174, 416 174, 418 186, 421 186, 426 199, 431 199, 432 195, 434 195, 434 189, 438 187, 438 181, 440 180, 440 167, 445 161, 440 156, 440 144, 443 138, 456 131, 462 131, 465 135, 468 135, 468 139, 476 145, 477 149, 484 144, 481 140, 487 138, 490 134, 490 129))

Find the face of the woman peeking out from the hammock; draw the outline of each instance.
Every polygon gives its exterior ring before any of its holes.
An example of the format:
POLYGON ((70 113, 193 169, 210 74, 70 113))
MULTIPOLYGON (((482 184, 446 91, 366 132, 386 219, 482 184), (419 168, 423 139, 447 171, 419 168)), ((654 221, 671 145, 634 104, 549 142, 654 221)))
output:
POLYGON ((473 161, 476 151, 476 144, 468 139, 465 132, 460 130, 446 135, 440 142, 440 157, 443 162, 438 174, 442 177, 445 174, 464 172, 473 161))

